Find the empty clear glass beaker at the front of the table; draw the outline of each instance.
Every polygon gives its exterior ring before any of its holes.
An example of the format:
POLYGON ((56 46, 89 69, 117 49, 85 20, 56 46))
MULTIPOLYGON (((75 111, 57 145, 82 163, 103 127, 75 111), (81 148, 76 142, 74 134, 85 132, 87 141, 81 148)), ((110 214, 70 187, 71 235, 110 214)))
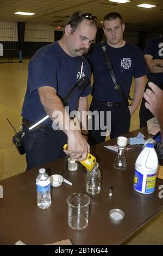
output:
POLYGON ((72 229, 85 229, 89 222, 90 197, 86 193, 73 193, 67 197, 68 225, 72 229))

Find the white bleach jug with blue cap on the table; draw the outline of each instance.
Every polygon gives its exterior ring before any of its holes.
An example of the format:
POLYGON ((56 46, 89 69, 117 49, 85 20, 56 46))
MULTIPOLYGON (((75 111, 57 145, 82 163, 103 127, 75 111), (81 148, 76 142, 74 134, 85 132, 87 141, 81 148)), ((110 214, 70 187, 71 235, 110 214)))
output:
POLYGON ((154 145, 148 143, 137 157, 135 163, 134 189, 137 192, 142 194, 154 192, 158 164, 158 156, 154 145))

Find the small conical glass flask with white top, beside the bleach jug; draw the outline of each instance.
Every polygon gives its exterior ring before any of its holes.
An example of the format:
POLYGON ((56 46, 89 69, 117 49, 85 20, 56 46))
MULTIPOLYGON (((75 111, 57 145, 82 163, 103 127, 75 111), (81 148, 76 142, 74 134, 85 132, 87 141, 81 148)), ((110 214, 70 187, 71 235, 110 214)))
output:
POLYGON ((118 152, 114 161, 114 168, 118 170, 124 170, 127 168, 125 146, 127 145, 127 138, 120 136, 117 138, 118 152))

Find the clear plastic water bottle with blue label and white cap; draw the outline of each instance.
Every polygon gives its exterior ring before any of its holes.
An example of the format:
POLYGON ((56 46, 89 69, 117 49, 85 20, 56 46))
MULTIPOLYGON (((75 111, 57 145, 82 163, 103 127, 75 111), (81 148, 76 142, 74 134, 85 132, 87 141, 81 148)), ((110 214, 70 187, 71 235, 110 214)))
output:
POLYGON ((51 180, 45 169, 39 170, 39 175, 36 178, 37 187, 37 206, 41 209, 47 209, 51 201, 51 180))

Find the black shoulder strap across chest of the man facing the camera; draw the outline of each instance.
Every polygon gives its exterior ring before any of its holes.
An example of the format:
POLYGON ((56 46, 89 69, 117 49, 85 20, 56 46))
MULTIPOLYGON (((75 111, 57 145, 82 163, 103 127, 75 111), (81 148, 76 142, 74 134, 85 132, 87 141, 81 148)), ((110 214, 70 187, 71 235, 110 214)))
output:
POLYGON ((106 52, 106 46, 105 46, 104 42, 102 43, 102 50, 103 50, 104 56, 105 56, 105 68, 106 68, 106 70, 109 70, 109 72, 110 72, 112 81, 115 86, 115 90, 124 99, 124 101, 127 102, 127 105, 128 105, 128 99, 130 99, 130 100, 133 100, 133 99, 131 99, 129 96, 127 97, 126 94, 123 92, 122 87, 120 85, 118 85, 113 68, 112 68, 112 63, 110 61, 108 53, 106 52))

